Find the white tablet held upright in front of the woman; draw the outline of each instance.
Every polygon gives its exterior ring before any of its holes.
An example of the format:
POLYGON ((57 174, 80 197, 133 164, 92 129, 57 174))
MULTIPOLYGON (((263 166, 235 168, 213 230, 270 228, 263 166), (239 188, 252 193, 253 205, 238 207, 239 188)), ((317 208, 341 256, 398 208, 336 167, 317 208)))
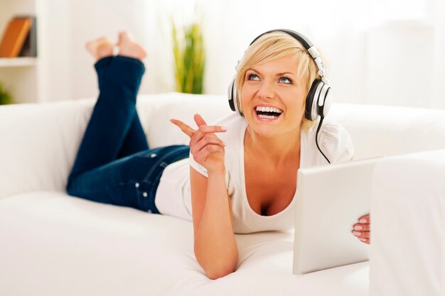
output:
POLYGON ((351 231, 360 216, 370 213, 372 172, 381 159, 298 171, 295 274, 368 261, 369 245, 351 231))

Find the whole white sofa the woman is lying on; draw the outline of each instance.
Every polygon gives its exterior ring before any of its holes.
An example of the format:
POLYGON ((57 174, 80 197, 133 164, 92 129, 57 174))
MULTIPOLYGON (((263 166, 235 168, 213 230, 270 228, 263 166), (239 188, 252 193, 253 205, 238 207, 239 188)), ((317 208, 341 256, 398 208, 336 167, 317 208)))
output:
MULTIPOLYGON (((445 295, 445 111, 331 109, 355 159, 397 155, 375 170, 370 262, 293 275, 292 231, 237 235, 237 271, 209 280, 190 221, 65 193, 94 104, 0 107, 0 295, 445 295)), ((151 147, 188 143, 170 118, 230 112, 223 96, 176 93, 138 110, 151 147)))

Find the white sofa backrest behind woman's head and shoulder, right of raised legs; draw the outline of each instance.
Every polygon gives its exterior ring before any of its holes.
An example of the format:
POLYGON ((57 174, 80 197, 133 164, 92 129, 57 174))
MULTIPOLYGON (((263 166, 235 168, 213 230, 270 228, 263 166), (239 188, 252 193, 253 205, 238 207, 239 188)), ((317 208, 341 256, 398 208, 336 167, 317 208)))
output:
MULTIPOLYGON (((168 119, 181 119, 194 127, 195 113, 211 124, 232 112, 224 96, 164 96, 162 104, 157 97, 145 97, 141 102, 144 108, 154 106, 150 110, 154 114, 144 117, 143 123, 151 146, 188 143, 168 119)), ((355 159, 445 148, 445 110, 336 103, 326 119, 337 121, 350 133, 355 159)))

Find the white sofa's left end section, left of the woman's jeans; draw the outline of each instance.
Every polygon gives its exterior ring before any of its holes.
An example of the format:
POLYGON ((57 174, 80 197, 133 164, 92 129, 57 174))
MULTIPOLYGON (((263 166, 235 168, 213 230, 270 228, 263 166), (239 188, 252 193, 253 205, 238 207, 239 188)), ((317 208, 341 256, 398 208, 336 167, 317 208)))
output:
POLYGON ((0 199, 35 190, 65 190, 90 119, 92 100, 0 108, 0 199))

